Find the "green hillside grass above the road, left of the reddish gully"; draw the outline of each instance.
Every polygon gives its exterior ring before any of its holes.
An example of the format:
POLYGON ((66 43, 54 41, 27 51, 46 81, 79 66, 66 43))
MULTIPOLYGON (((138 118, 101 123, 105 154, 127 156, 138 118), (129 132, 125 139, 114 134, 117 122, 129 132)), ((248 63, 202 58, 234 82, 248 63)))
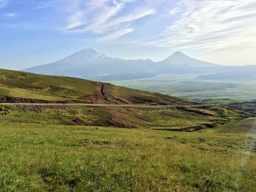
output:
MULTIPOLYGON (((53 77, 0 70, 2 93, 9 96, 29 99, 79 99, 79 96, 90 96, 94 93, 95 82, 70 77, 53 77)), ((1 94, 2 94, 1 93, 1 94)), ((2 94, 3 95, 3 94, 2 94)))

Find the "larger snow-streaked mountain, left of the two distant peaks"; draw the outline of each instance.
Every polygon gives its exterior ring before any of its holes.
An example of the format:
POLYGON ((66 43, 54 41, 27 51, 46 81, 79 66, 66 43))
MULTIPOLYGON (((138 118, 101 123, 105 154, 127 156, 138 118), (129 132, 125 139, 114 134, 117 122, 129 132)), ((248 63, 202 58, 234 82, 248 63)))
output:
POLYGON ((123 60, 110 58, 95 50, 80 50, 64 59, 52 64, 35 66, 24 69, 25 72, 37 74, 82 77, 90 80, 129 79, 134 77, 148 77, 154 72, 148 65, 154 64, 151 60, 123 60))

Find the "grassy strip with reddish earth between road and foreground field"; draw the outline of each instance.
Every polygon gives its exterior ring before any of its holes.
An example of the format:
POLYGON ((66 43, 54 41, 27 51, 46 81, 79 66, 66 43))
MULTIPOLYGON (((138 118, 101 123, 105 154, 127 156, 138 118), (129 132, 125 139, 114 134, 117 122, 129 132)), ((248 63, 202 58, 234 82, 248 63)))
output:
POLYGON ((124 128, 184 128, 203 123, 227 123, 244 118, 243 113, 225 107, 130 108, 130 107, 42 107, 7 106, 10 112, 0 115, 2 123, 37 123, 75 125, 80 119, 87 126, 117 126, 124 128), (203 112, 203 113, 200 113, 203 112))

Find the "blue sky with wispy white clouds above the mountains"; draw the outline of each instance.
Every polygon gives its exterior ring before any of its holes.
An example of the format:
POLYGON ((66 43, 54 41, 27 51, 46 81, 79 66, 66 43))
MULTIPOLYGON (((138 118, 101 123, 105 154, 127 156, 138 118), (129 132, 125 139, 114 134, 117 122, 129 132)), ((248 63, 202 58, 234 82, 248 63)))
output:
POLYGON ((256 0, 0 0, 0 68, 49 64, 84 48, 256 64, 256 0))

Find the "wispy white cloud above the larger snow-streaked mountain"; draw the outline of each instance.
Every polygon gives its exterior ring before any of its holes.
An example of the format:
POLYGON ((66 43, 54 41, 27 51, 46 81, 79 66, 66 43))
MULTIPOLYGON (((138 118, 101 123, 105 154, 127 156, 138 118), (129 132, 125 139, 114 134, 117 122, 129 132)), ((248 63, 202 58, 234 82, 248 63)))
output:
POLYGON ((64 31, 69 33, 85 33, 102 35, 99 42, 117 39, 135 30, 135 26, 127 28, 136 20, 157 13, 157 9, 150 7, 135 7, 132 12, 122 12, 135 0, 91 0, 80 4, 67 19, 64 31))

